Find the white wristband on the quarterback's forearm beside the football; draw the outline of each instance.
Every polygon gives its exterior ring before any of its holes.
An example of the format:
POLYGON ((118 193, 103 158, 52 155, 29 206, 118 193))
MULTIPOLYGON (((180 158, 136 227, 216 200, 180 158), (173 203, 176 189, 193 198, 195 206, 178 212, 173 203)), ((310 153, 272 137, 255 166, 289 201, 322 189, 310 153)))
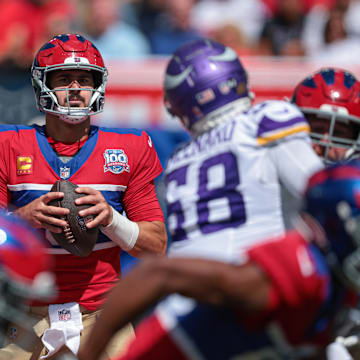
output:
POLYGON ((101 231, 112 241, 118 244, 123 250, 131 250, 139 236, 139 226, 136 222, 122 216, 118 211, 111 207, 113 220, 107 226, 101 226, 101 231))

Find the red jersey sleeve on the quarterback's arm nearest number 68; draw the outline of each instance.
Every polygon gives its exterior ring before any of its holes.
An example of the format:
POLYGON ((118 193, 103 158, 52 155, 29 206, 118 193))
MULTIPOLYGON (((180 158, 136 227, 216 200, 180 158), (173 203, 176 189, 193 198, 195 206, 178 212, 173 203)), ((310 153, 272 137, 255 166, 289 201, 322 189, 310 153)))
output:
POLYGON ((137 164, 124 196, 126 214, 132 221, 165 221, 154 185, 162 166, 150 136, 143 131, 137 144, 137 164))

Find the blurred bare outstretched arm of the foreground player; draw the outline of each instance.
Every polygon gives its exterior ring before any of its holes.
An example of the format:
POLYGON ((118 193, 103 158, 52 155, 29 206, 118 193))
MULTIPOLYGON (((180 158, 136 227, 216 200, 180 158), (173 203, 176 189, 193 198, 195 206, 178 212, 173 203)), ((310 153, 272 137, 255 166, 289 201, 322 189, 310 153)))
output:
POLYGON ((110 293, 80 360, 95 360, 112 335, 162 297, 179 293, 246 312, 264 309, 269 280, 254 264, 237 266, 204 259, 144 259, 110 293), (101 336, 99 336, 101 334, 101 336))

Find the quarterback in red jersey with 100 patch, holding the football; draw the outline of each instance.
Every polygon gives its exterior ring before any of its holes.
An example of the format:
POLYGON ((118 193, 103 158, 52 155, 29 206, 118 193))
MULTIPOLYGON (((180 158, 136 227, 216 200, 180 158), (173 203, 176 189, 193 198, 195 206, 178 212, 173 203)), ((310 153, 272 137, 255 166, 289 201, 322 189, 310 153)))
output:
POLYGON ((90 116, 103 110, 108 77, 98 49, 80 35, 56 36, 36 54, 31 76, 45 125, 0 127, 0 205, 42 232, 54 254, 59 295, 51 304, 30 308, 39 321, 45 319, 45 326, 35 327, 36 346, 18 346, 20 331, 9 338, 8 348, 21 359, 51 356, 59 336, 76 353, 80 335, 86 337, 119 278, 120 252, 164 254, 167 243, 154 186, 162 167, 151 138, 140 130, 90 124, 90 116), (80 213, 94 216, 89 228, 100 226, 87 257, 68 253, 51 235, 66 226, 62 217, 68 212, 49 206, 63 196, 49 192, 59 179, 77 184, 86 195, 77 204, 93 205, 80 213))

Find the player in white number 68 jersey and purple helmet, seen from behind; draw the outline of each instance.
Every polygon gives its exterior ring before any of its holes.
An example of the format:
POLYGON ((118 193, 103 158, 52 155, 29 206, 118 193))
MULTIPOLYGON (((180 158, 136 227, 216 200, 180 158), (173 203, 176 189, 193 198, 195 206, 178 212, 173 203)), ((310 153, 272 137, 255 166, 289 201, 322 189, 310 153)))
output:
POLYGON ((323 164, 309 125, 287 101, 252 106, 237 54, 212 40, 180 47, 164 81, 165 105, 192 135, 165 169, 171 253, 236 254, 285 227, 281 186, 299 201, 323 164))

